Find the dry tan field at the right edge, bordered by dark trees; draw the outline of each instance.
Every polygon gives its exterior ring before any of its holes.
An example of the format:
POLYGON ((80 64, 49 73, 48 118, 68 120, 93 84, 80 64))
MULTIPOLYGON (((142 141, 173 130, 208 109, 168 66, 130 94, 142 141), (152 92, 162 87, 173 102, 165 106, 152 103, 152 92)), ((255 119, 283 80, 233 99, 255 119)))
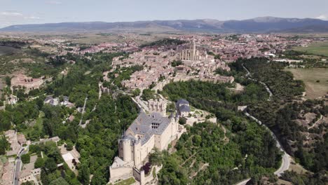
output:
POLYGON ((285 69, 294 74, 294 78, 306 84, 306 97, 313 99, 328 93, 328 69, 285 69), (319 82, 317 82, 319 81, 319 82))

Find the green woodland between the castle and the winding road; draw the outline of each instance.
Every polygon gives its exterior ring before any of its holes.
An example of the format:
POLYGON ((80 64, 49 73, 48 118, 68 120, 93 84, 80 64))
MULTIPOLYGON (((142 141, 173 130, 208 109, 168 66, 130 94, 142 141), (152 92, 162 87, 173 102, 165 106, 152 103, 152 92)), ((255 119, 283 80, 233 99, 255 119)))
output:
POLYGON ((177 152, 164 155, 160 184, 233 184, 278 168, 281 153, 275 147, 273 137, 257 123, 236 112, 238 104, 266 100, 266 90, 261 85, 250 83, 245 92, 235 94, 226 88, 227 85, 177 82, 165 85, 160 92, 169 100, 184 98, 193 107, 214 113, 228 130, 228 142, 224 142, 224 132, 217 124, 199 123, 189 128, 175 146, 177 152), (193 167, 189 166, 192 160, 184 163, 191 156, 197 161, 193 167), (207 170, 200 170, 195 175, 195 169, 206 163, 210 163, 207 170), (191 176, 193 178, 189 178, 191 176))

